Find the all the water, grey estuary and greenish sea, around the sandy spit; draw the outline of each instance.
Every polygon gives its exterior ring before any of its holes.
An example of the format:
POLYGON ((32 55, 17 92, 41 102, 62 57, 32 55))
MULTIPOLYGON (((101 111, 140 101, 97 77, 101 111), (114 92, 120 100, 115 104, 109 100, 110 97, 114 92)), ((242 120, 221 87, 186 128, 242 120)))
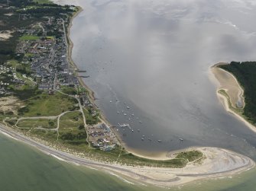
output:
MULTIPOLYGON (((215 146, 256 159, 256 134, 225 112, 209 80, 216 62, 256 59, 253 0, 75 2, 84 11, 73 21, 73 59, 109 121, 134 129, 118 131, 128 148, 215 146)), ((1 190, 162 190, 66 164, 1 134, 0 151, 1 190)), ((253 169, 163 190, 252 191, 255 179, 253 169)))

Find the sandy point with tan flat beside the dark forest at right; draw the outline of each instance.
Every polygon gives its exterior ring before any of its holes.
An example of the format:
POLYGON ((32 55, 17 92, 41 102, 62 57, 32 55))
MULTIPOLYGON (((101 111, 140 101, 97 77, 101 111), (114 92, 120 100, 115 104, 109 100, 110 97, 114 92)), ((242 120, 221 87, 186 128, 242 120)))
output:
POLYGON ((238 83, 238 80, 230 72, 219 68, 219 65, 227 63, 218 63, 210 68, 210 78, 217 86, 216 94, 221 101, 225 110, 232 113, 235 117, 246 124, 252 131, 256 132, 255 126, 249 123, 245 116, 242 115, 242 110, 245 107, 244 90, 238 83), (242 107, 238 107, 237 103, 240 102, 242 107))

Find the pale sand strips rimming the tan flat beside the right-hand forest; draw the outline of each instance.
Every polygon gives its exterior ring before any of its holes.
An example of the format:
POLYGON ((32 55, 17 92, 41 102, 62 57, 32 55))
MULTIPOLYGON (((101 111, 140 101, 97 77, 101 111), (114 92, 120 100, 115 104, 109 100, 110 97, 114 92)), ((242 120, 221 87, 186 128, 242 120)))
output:
MULTIPOLYGON (((221 62, 221 63, 215 64, 215 65, 212 65, 212 67, 210 67, 210 78, 212 79, 212 82, 217 86, 217 90, 216 90, 217 97, 228 113, 231 113, 237 119, 239 119, 241 122, 245 123, 245 125, 248 126, 248 128, 251 129, 251 131, 256 132, 256 127, 254 125, 252 125, 250 122, 248 122, 248 120, 245 119, 245 116, 242 116, 240 113, 236 112, 234 110, 236 108, 232 107, 232 105, 230 106, 231 103, 229 100, 229 95, 228 95, 227 91, 222 88, 222 83, 218 79, 219 74, 218 74, 218 72, 215 72, 214 70, 212 70, 212 68, 217 68, 218 65, 222 65, 222 64, 227 64, 227 63, 221 62), (222 91, 222 90, 225 91, 225 94, 227 94, 228 97, 225 97, 225 95, 219 93, 219 91, 222 91)), ((230 72, 227 72, 227 71, 223 70, 222 68, 219 68, 219 69, 221 69, 223 72, 227 73, 228 75, 232 75, 230 72)), ((241 88, 241 85, 239 84, 237 78, 235 78, 234 75, 232 75, 232 77, 235 79, 238 88, 241 89, 240 96, 244 98, 243 88, 241 88)), ((245 102, 244 102, 244 107, 245 107, 245 102)), ((244 109, 244 107, 242 107, 241 109, 244 109)))

